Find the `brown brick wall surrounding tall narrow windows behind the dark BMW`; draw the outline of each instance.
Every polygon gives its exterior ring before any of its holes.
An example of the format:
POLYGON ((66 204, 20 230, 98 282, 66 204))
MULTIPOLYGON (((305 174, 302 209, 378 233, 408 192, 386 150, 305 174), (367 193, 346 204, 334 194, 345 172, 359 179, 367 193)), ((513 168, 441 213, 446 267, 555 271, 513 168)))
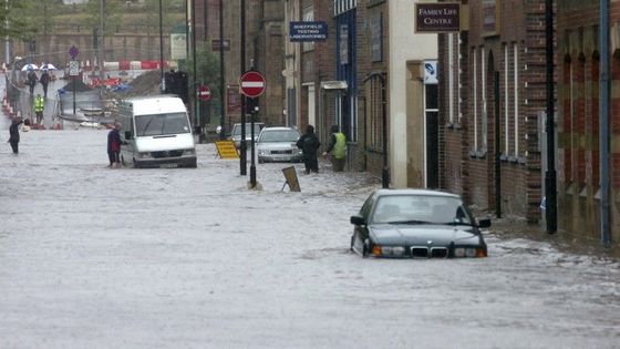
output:
MULTIPOLYGON (((502 1, 499 31, 488 35, 482 30, 482 1, 462 1, 469 4, 469 30, 463 32, 461 69, 461 112, 463 119, 457 125, 448 125, 445 132, 445 187, 463 196, 478 208, 495 211, 497 195, 502 199, 504 213, 526 217, 536 222, 540 217, 538 205, 541 197, 540 154, 536 135, 538 113, 545 110, 545 41, 544 39, 544 0, 502 1), (514 102, 505 103, 505 97, 514 99, 514 57, 513 48, 518 48, 518 134, 515 138, 514 102), (504 48, 509 48, 508 71, 505 71, 504 48), (486 148, 483 138, 483 104, 482 104, 482 57, 485 51, 486 73, 486 148), (474 58, 472 54, 477 57, 474 58), (493 59, 490 59, 493 58, 493 59), (474 74, 476 62, 477 76, 474 74), (499 144, 495 144, 494 111, 494 72, 499 71, 500 99, 499 109, 499 144), (508 74, 508 84, 505 84, 508 74), (542 76, 542 78, 541 78, 542 76), (477 94, 474 95, 474 80, 477 94), (508 93, 506 92, 508 89, 508 93), (477 104, 477 123, 474 124, 474 101, 477 104), (508 124, 505 112, 508 109, 508 124), (477 127, 477 148, 474 137, 477 127), (506 129, 508 133, 506 134, 506 129), (505 153, 505 141, 508 140, 508 154, 505 153), (516 153, 515 143, 518 143, 516 153), (495 192, 495 154, 504 156, 500 164, 502 192, 495 192), (516 155, 516 156, 515 156, 516 155), (525 195, 524 195, 525 193, 525 195)), ((440 76, 446 76, 447 47, 445 38, 440 48, 440 76)), ((458 74, 458 72, 456 72, 458 74)), ((441 78, 440 78, 441 79, 441 78)), ((448 89, 441 82, 441 90, 448 89)), ((447 94, 447 92, 446 92, 447 94)), ((442 95, 440 110, 443 120, 447 121, 447 96, 442 95)))

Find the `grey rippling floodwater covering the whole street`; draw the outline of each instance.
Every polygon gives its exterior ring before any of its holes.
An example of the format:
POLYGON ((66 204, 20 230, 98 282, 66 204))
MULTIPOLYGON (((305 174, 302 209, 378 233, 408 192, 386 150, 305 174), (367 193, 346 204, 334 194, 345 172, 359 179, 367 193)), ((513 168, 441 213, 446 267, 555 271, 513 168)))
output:
POLYGON ((110 170, 105 142, 1 147, 0 347, 619 348, 617 260, 494 226, 488 258, 365 259, 365 174, 298 164, 291 193, 289 164, 260 164, 250 191, 213 144, 195 170, 110 170))

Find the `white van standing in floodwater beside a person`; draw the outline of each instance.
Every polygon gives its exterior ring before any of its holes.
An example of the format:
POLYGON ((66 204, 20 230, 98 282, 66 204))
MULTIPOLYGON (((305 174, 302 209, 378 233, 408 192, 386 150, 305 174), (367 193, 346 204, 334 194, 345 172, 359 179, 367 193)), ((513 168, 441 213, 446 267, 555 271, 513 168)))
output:
POLYGON ((174 95, 124 100, 118 105, 121 163, 135 167, 196 167, 196 145, 183 101, 174 95))

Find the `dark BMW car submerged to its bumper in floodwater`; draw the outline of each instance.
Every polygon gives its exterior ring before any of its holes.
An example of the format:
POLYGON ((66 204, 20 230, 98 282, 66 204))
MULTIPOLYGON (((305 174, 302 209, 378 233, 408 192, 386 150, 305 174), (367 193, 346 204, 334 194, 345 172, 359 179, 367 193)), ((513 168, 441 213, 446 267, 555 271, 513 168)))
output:
POLYGON ((351 250, 368 257, 486 257, 479 228, 458 195, 427 189, 378 189, 351 216, 351 250))

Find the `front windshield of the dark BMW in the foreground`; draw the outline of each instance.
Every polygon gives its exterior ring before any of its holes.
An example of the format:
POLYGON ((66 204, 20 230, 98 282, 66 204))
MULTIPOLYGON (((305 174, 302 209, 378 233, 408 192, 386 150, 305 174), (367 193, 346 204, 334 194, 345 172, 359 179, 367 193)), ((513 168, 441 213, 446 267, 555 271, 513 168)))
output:
POLYGON ((472 216, 456 197, 433 195, 386 195, 380 197, 372 223, 472 225, 472 216))

